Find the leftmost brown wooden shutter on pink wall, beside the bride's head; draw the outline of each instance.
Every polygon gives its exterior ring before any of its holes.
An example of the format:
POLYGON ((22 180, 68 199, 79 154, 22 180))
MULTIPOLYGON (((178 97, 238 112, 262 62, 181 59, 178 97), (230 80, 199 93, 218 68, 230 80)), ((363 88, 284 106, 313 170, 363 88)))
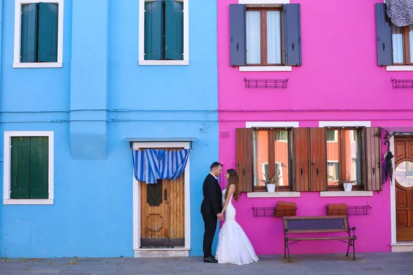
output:
POLYGON ((241 192, 253 192, 253 140, 251 128, 237 128, 237 173, 241 192))

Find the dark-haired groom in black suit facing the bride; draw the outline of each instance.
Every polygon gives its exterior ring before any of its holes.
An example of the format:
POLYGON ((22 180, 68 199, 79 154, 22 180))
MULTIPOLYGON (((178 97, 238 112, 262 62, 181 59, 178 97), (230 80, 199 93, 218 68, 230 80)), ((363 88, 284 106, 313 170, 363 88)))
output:
POLYGON ((209 174, 202 185, 204 200, 201 204, 202 219, 204 219, 204 263, 218 263, 212 254, 212 241, 217 229, 217 218, 222 221, 222 191, 217 177, 222 173, 222 164, 211 164, 209 174))

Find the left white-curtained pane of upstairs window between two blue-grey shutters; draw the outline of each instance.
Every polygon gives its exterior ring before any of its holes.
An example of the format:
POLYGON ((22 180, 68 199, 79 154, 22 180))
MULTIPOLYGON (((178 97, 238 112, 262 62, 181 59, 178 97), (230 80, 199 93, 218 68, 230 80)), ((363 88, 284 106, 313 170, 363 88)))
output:
POLYGON ((246 11, 246 63, 261 63, 261 23, 259 10, 246 11))

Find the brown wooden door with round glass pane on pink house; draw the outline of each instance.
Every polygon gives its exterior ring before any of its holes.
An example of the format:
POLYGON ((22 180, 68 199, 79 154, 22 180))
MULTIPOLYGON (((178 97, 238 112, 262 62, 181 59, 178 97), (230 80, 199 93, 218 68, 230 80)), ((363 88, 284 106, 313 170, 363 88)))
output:
POLYGON ((394 137, 396 240, 413 241, 413 138, 394 137))

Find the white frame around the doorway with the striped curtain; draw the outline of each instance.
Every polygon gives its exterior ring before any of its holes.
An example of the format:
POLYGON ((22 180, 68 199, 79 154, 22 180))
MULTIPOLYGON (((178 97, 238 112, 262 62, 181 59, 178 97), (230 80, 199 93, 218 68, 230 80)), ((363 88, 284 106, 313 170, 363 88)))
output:
MULTIPOLYGON (((134 142, 133 149, 139 148, 190 148, 190 142, 134 142)), ((188 157, 187 166, 184 170, 184 247, 162 248, 162 249, 142 249, 140 248, 140 181, 137 181, 132 172, 133 183, 133 245, 135 257, 162 257, 162 256, 189 256, 191 250, 191 190, 190 190, 190 167, 191 156, 188 157)), ((133 169, 132 169, 133 170, 133 169)))

